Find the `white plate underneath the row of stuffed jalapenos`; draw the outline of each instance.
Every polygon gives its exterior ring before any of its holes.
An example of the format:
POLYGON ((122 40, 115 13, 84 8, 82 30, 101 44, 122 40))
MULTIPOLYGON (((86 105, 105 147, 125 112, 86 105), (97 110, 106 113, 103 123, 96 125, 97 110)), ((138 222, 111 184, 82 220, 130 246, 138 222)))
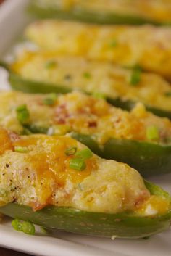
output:
MULTIPOLYGON (((27 24, 23 8, 28 0, 8 0, 0 9, 0 55, 9 48, 14 38, 27 24)), ((7 72, 0 69, 0 88, 9 89, 7 72)), ((171 175, 151 178, 151 181, 171 193, 171 175)), ((170 256, 171 231, 152 236, 149 240, 100 239, 57 232, 52 236, 28 236, 14 231, 11 220, 0 224, 0 246, 41 256, 170 256)))

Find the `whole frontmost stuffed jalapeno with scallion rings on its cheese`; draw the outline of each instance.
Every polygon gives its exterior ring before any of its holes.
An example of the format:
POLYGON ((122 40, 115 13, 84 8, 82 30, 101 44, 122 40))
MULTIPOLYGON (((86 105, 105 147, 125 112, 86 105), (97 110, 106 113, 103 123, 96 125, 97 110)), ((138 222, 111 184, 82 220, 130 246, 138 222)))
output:
POLYGON ((93 236, 139 238, 170 227, 167 192, 69 136, 18 136, 0 128, 0 144, 5 215, 93 236))

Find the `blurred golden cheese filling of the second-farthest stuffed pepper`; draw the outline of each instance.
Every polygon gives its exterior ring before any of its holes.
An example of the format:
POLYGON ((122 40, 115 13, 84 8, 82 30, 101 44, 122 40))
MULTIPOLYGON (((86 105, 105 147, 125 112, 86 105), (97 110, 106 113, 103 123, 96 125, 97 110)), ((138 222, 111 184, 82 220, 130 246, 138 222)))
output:
POLYGON ((140 65, 171 79, 171 29, 152 25, 88 25, 58 20, 37 21, 25 35, 40 49, 56 54, 140 65), (70 31, 70 33, 68 33, 70 31))

